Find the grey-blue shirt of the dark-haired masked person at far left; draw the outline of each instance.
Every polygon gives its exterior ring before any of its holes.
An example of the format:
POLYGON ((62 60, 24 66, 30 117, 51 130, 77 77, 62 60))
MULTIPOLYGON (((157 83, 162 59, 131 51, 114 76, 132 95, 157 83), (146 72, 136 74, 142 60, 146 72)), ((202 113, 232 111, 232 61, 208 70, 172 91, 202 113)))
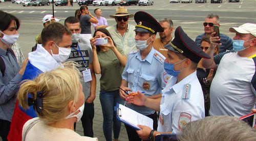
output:
POLYGON ((18 73, 20 66, 9 49, 0 49, 0 55, 5 62, 5 75, 0 72, 0 119, 10 121, 16 103, 16 92, 22 75, 18 73))

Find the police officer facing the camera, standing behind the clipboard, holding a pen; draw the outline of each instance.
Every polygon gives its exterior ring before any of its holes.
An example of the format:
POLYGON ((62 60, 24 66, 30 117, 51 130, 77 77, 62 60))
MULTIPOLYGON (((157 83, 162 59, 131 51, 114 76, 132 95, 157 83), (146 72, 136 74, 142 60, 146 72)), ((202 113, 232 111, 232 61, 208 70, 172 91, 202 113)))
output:
MULTIPOLYGON (((132 51, 127 59, 122 74, 121 88, 125 91, 144 91, 149 98, 159 98, 161 90, 165 87, 169 75, 163 68, 165 57, 153 48, 153 41, 157 32, 163 32, 163 28, 150 14, 139 11, 135 13, 135 44, 138 50, 132 51)), ((120 90, 120 97, 126 98, 126 93, 120 90)), ((125 106, 151 117, 154 121, 154 129, 157 129, 157 113, 155 110, 144 106, 135 106, 125 103, 125 106)), ((129 140, 141 138, 136 130, 125 125, 129 140)))

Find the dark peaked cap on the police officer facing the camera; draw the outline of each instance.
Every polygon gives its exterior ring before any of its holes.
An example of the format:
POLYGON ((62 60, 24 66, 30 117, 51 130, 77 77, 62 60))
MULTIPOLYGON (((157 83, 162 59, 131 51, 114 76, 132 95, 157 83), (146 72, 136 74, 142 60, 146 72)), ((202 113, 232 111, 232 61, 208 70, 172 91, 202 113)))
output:
POLYGON ((134 31, 153 34, 164 31, 158 21, 153 16, 144 11, 136 12, 134 14, 134 20, 137 23, 134 31))

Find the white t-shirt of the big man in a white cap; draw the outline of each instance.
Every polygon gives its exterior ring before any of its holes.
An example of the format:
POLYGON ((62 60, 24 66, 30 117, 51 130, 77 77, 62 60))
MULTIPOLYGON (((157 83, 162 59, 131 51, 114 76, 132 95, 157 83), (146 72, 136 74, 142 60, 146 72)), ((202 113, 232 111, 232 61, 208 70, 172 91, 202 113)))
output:
POLYGON ((255 107, 254 59, 235 52, 221 58, 210 86, 210 115, 240 117, 255 107))

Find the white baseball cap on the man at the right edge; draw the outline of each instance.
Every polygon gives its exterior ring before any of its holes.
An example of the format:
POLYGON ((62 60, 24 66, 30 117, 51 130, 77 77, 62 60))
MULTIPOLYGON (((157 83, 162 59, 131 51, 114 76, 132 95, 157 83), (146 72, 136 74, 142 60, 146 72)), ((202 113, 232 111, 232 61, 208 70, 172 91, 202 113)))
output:
POLYGON ((244 23, 242 26, 235 28, 229 28, 229 32, 238 32, 241 34, 251 34, 256 37, 256 24, 254 23, 244 23))

